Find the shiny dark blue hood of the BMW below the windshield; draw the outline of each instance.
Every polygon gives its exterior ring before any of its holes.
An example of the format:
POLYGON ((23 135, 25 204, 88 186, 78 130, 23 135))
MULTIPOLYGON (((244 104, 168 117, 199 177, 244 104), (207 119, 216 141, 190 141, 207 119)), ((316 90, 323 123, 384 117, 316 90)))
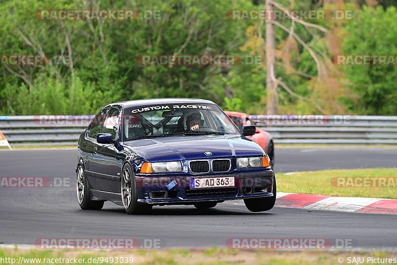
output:
POLYGON ((145 160, 173 161, 215 157, 263 155, 254 141, 236 135, 188 135, 137 139, 124 143, 145 160), (211 152, 207 156, 204 153, 211 152))

